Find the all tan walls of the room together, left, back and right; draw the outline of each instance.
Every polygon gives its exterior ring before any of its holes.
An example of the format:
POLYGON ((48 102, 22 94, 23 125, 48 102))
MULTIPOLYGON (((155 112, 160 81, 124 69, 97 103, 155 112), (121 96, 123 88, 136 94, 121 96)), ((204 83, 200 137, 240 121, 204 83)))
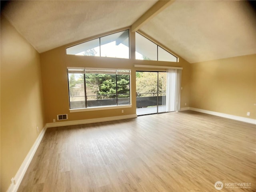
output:
POLYGON ((183 67, 182 108, 256 119, 256 55, 195 64, 182 58, 178 63, 135 60, 134 38, 131 33, 131 59, 66 55, 71 44, 39 55, 1 16, 1 191, 7 190, 45 123, 57 114, 68 114, 68 120, 136 114, 135 72, 152 69, 134 64, 183 67), (132 108, 124 108, 123 114, 122 109, 70 113, 68 66, 131 69, 132 108))

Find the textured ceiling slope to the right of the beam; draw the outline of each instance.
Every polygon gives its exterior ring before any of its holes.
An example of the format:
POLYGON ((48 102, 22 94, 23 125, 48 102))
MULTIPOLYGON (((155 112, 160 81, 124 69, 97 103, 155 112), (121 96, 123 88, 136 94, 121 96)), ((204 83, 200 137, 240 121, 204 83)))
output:
POLYGON ((140 30, 190 63, 256 53, 246 1, 176 1, 140 30))

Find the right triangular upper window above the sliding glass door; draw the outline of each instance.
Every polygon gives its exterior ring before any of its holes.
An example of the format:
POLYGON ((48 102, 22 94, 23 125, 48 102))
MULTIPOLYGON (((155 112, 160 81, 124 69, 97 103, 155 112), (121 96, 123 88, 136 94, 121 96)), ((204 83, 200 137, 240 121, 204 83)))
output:
POLYGON ((154 42, 141 34, 135 34, 136 38, 136 59, 177 62, 177 57, 164 50, 154 42))

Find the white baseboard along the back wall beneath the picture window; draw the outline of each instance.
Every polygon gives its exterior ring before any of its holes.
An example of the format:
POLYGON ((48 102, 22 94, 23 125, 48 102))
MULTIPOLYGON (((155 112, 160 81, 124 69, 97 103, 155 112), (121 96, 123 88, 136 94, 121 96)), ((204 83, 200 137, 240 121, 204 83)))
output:
POLYGON ((75 120, 75 121, 62 121, 62 122, 47 123, 46 127, 60 127, 60 126, 68 126, 68 125, 98 123, 98 122, 114 121, 114 120, 129 119, 129 118, 136 118, 136 117, 137 117, 136 114, 132 114, 132 115, 121 115, 121 116, 103 117, 103 118, 95 118, 95 119, 84 119, 84 120, 75 120))

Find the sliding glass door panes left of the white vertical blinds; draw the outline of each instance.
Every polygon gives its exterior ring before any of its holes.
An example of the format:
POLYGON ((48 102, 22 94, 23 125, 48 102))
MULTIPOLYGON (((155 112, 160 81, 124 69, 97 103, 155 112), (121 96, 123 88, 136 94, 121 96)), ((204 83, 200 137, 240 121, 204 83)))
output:
POLYGON ((166 112, 166 72, 136 72, 137 115, 166 112))

